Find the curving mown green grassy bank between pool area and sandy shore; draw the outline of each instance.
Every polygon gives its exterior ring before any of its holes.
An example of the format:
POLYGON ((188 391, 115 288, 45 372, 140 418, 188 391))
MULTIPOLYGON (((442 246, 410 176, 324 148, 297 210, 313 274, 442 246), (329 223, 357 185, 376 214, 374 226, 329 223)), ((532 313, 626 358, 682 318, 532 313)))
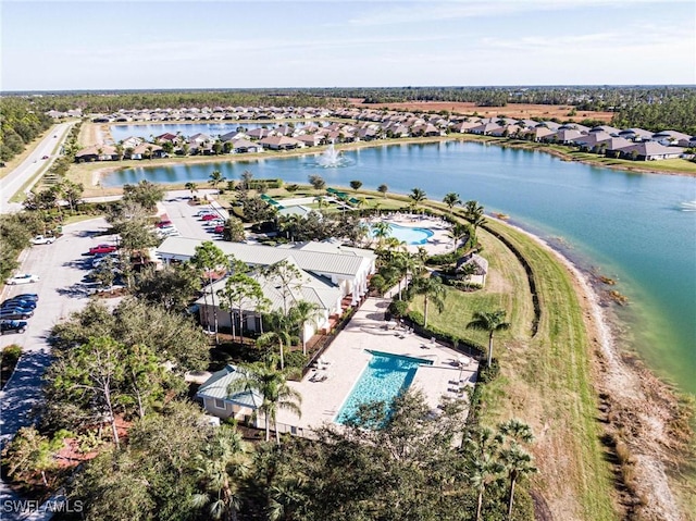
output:
MULTIPOLYGON (((486 344, 486 335, 465 330, 477 310, 506 309, 512 324, 495 344, 501 377, 486 388, 484 423, 515 417, 530 423, 537 442, 538 489, 555 519, 618 519, 610 467, 600 444, 591 346, 577 288, 558 259, 529 236, 501 223, 504 234, 535 273, 542 317, 531 336, 532 295, 526 274, 496 237, 480 232, 483 256, 490 262, 482 291, 448 289, 445 312, 430 311, 432 324, 486 344)), ((422 312, 422 300, 413 303, 422 312)))

